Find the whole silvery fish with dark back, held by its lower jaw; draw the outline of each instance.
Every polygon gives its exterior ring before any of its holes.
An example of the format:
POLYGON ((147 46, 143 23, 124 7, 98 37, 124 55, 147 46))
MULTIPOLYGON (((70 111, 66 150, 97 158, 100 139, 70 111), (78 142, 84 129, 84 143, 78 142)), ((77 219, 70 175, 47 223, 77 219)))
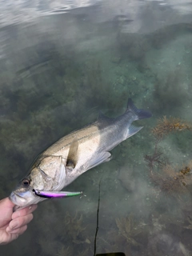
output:
MULTIPOLYGON (((101 112, 96 122, 60 138, 36 158, 29 174, 11 192, 9 198, 15 210, 51 198, 46 197, 51 192, 53 197, 57 197, 57 193, 61 197, 62 192, 58 191, 87 170, 110 161, 110 150, 142 129, 132 122, 151 115, 150 111, 134 106, 129 98, 124 114, 109 118, 101 112)), ((63 193, 65 197, 66 192, 63 193)))

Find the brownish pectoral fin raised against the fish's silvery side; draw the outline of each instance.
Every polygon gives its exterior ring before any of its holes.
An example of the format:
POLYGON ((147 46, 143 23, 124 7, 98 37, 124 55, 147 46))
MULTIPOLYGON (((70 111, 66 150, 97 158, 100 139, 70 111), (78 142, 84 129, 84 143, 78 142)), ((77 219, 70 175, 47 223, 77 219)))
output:
POLYGON ((70 150, 66 159, 66 166, 74 167, 77 165, 78 162, 78 140, 74 139, 73 142, 70 144, 70 150))

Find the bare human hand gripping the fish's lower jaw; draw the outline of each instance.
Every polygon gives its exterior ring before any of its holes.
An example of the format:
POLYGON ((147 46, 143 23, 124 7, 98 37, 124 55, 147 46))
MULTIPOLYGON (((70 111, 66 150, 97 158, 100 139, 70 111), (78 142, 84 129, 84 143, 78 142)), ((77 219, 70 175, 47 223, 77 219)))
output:
POLYGON ((14 206, 9 198, 0 201, 0 245, 17 239, 25 232, 27 224, 33 219, 32 212, 37 208, 37 205, 31 205, 13 213, 14 206))

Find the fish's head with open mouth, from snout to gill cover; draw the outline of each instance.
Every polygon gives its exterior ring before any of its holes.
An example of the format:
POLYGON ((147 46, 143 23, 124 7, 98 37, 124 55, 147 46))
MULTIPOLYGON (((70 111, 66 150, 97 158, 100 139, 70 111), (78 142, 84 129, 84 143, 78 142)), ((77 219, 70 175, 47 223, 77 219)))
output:
POLYGON ((45 200, 35 193, 38 191, 62 190, 66 185, 66 168, 61 156, 48 156, 38 159, 25 178, 10 194, 14 210, 45 200))

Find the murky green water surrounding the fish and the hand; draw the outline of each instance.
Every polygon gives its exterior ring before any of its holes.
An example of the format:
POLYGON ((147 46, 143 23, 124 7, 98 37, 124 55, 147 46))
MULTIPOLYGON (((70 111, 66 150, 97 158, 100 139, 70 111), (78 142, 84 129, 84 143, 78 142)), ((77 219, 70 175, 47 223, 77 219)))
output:
POLYGON ((172 0, 1 1, 1 198, 42 150, 99 110, 115 117, 131 97, 153 113, 110 162, 67 187, 86 197, 39 204, 1 254, 94 255, 100 181, 98 254, 192 254, 191 9, 172 0))

